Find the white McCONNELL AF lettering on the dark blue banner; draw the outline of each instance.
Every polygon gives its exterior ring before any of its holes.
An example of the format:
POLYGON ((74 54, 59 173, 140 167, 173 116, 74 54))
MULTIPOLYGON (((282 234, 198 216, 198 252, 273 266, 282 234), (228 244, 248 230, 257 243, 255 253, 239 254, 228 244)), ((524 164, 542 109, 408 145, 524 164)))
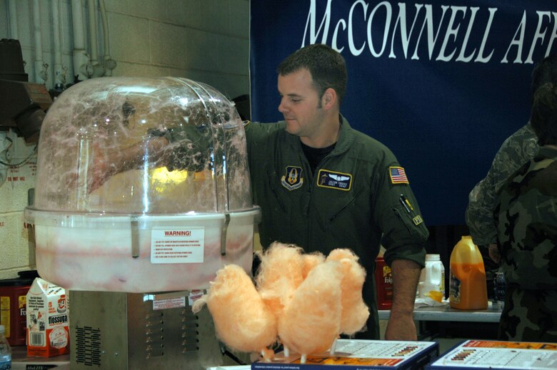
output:
MULTIPOLYGON (((348 19, 340 17, 336 24, 331 24, 332 3, 333 0, 327 0, 325 8, 319 9, 323 11, 320 19, 317 4, 323 2, 310 1, 302 47, 310 43, 328 43, 337 51, 343 51, 347 46, 353 56, 361 56, 367 51, 374 58, 388 56, 408 59, 411 55, 411 60, 419 60, 424 56, 419 55, 418 46, 425 43, 425 57, 430 61, 463 63, 488 63, 496 51, 493 46, 488 46, 488 41, 491 26, 496 21, 497 8, 441 5, 441 16, 434 19, 433 11, 436 9, 433 9, 433 5, 413 4, 415 13, 408 29, 407 21, 412 15, 404 3, 393 5, 390 1, 381 1, 373 5, 372 1, 355 0, 348 11, 348 19), (373 28, 374 22, 384 24, 384 29, 381 26, 379 32, 377 27, 373 28), (330 30, 333 33, 329 40, 330 30), (481 41, 479 38, 471 40, 473 34, 482 35, 481 41), (364 36, 358 38, 358 35, 364 36), (400 51, 403 56, 397 55, 400 51)), ((545 56, 551 53, 557 39, 557 11, 536 11, 537 26, 533 36, 526 35, 527 16, 526 10, 523 11, 516 29, 510 26, 508 47, 499 63, 508 63, 509 59, 513 60, 512 63, 533 63, 535 51, 545 49, 545 56)), ((498 39, 501 39, 500 35, 498 39)))

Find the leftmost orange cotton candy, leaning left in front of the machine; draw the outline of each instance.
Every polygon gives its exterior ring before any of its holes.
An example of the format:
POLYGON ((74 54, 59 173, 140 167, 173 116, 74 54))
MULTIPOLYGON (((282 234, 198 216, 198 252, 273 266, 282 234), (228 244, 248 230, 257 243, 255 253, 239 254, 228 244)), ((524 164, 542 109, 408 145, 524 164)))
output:
POLYGON ((259 352, 276 341, 276 317, 240 266, 229 264, 216 273, 206 303, 216 335, 232 349, 259 352))

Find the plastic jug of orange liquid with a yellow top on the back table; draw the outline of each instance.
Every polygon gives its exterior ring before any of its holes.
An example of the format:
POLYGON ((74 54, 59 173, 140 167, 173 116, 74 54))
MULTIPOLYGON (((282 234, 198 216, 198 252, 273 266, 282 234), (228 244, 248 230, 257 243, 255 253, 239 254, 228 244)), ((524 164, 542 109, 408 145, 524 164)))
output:
POLYGON ((488 307, 486 269, 470 236, 461 237, 451 252, 448 302, 456 309, 488 307))

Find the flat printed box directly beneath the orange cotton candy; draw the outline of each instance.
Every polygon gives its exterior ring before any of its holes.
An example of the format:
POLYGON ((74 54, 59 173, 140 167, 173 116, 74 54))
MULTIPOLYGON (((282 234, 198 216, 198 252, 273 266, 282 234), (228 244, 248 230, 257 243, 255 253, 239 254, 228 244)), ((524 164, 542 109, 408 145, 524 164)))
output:
POLYGON ((366 369, 423 369, 439 354, 433 341, 368 341, 338 339, 331 351, 307 356, 276 354, 271 362, 254 362, 252 370, 366 370, 366 369))

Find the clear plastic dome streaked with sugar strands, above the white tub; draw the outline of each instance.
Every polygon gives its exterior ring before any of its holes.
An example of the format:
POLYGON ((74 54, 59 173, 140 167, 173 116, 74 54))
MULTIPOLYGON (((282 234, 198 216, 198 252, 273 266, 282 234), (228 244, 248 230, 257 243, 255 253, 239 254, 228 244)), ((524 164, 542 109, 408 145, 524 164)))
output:
POLYGON ((239 114, 211 86, 182 78, 95 78, 62 93, 46 115, 34 208, 130 214, 245 210, 251 208, 246 160, 239 114), (94 188, 98 163, 117 168, 121 152, 158 135, 174 139, 169 163, 154 161, 149 146, 140 145, 134 169, 94 188), (206 148, 189 150, 203 140, 206 148))

